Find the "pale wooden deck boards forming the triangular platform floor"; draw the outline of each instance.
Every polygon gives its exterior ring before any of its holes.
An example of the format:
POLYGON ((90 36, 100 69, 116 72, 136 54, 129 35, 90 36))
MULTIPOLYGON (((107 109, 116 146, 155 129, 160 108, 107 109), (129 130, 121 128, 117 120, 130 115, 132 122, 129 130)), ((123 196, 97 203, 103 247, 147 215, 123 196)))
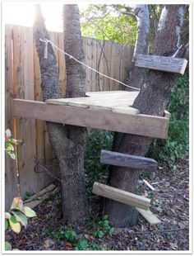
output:
POLYGON ((48 99, 48 104, 85 107, 136 115, 139 110, 131 107, 139 92, 108 91, 86 92, 86 97, 48 99))

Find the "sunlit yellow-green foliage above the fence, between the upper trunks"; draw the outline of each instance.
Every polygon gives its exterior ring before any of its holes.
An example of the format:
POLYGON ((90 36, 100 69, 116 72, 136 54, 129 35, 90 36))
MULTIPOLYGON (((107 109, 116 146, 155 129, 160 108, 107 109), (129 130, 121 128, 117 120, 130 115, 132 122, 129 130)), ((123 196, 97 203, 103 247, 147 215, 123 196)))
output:
POLYGON ((81 13, 81 34, 98 40, 135 45, 136 19, 118 12, 113 5, 89 5, 81 13))

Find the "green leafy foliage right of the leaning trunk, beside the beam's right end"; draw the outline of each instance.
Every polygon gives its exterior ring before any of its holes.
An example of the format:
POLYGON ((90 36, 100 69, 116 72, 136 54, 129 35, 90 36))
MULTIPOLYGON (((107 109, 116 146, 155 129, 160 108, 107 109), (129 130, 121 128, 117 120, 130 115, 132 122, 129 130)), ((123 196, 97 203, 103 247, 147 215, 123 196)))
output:
POLYGON ((176 87, 170 98, 168 111, 171 113, 169 121, 169 135, 166 140, 156 140, 150 148, 149 155, 166 162, 175 168, 177 159, 185 159, 188 155, 189 143, 189 78, 184 74, 178 78, 176 87))

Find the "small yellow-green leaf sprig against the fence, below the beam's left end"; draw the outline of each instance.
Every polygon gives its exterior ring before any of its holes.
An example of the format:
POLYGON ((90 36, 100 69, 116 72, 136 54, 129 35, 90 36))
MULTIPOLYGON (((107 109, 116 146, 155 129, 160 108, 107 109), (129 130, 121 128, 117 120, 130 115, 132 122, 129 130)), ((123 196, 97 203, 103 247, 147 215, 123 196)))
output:
POLYGON ((12 139, 12 132, 11 130, 6 130, 5 135, 5 149, 7 154, 14 160, 16 160, 16 145, 19 145, 21 143, 21 140, 12 139))

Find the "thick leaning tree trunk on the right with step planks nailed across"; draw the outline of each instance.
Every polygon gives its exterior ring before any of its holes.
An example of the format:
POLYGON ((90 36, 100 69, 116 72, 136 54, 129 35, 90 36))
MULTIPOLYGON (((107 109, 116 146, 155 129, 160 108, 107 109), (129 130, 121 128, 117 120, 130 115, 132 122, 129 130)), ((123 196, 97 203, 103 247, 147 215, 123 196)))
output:
MULTIPOLYGON (((164 7, 155 38, 155 55, 169 56, 178 50, 185 8, 182 5, 166 5, 164 7)), ((181 51, 179 57, 183 55, 184 51, 181 51)), ((150 70, 146 84, 141 88, 133 107, 138 108, 142 114, 162 116, 177 78, 178 75, 173 73, 150 70)), ((151 138, 145 136, 124 134, 119 143, 114 144, 113 150, 144 156, 151 141, 151 138)), ((123 168, 113 167, 109 173, 109 184, 136 193, 139 171, 132 168, 123 170, 123 168)), ((134 207, 107 200, 105 211, 109 216, 111 225, 136 224, 134 207)))

